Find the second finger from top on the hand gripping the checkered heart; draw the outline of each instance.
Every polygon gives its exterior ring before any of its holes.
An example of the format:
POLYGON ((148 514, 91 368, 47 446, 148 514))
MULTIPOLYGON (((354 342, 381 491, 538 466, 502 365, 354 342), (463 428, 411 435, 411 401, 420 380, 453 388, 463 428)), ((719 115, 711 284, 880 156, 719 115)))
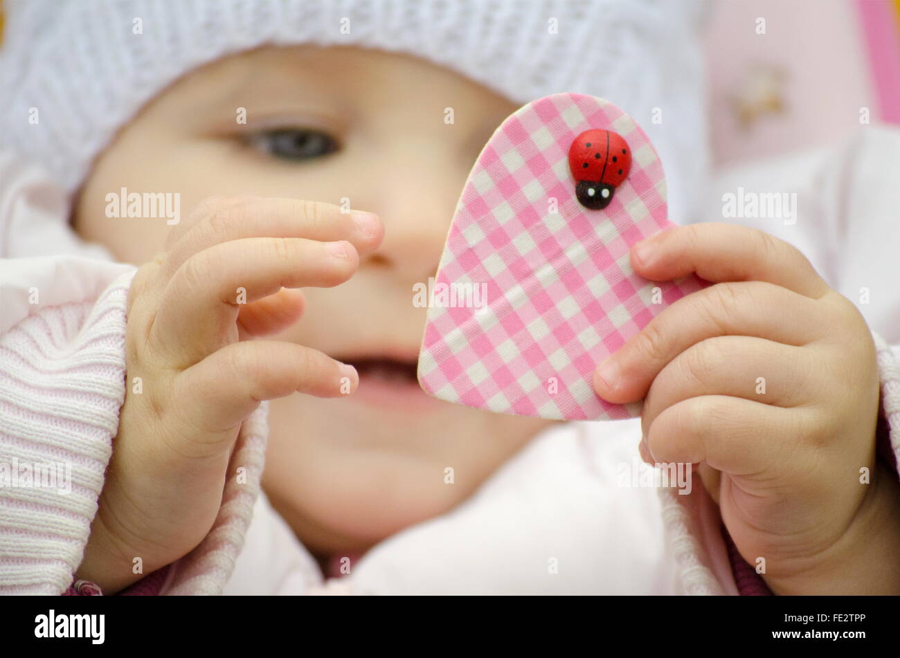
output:
POLYGON ((594 388, 609 402, 635 402, 671 360, 697 342, 746 335, 806 345, 827 329, 823 318, 814 299, 772 283, 717 283, 664 308, 599 365, 594 388))

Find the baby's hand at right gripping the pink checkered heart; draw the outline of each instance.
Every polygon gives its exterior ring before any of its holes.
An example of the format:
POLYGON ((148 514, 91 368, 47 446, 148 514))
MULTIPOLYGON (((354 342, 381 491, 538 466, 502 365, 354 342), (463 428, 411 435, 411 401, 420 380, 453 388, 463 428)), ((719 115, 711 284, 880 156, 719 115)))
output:
POLYGON ((857 308, 796 248, 745 227, 664 231, 631 262, 650 280, 715 283, 597 371, 609 402, 645 396, 644 460, 698 465, 772 591, 898 593, 900 485, 876 462, 876 351, 857 308))

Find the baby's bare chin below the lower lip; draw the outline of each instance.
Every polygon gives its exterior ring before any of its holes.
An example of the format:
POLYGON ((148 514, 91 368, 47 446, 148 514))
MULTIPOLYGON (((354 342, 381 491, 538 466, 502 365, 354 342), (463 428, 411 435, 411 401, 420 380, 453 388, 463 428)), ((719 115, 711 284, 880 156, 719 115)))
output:
POLYGON ((350 398, 272 402, 264 487, 307 548, 358 554, 452 510, 549 424, 435 404, 404 414, 350 398))

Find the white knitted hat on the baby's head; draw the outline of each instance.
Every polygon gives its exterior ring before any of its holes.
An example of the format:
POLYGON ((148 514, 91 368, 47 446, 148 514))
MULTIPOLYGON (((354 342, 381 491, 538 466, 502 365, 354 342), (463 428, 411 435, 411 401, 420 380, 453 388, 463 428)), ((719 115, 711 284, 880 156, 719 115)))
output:
POLYGON ((694 0, 7 0, 6 7, 0 146, 35 159, 70 192, 116 130, 167 84, 265 44, 406 52, 514 102, 557 92, 607 98, 653 139, 677 222, 707 168, 694 0))

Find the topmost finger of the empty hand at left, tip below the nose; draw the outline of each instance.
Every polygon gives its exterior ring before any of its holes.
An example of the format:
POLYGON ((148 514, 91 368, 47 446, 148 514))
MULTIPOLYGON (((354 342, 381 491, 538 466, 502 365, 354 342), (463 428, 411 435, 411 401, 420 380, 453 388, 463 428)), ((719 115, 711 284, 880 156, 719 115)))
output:
POLYGON ((321 242, 347 240, 360 253, 381 244, 384 227, 371 212, 343 211, 331 203, 270 197, 213 197, 169 234, 166 277, 194 253, 248 237, 303 237, 321 242))

